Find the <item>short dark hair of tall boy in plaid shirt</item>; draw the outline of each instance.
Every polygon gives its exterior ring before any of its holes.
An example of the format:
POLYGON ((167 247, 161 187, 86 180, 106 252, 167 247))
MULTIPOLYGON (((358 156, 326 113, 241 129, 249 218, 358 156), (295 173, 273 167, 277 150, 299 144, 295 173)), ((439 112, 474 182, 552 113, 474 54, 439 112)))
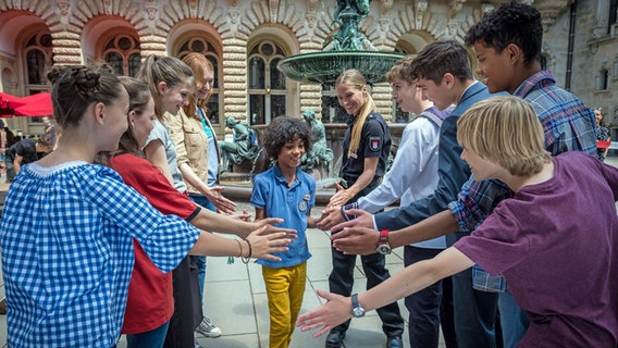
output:
POLYGON ((524 64, 541 61, 543 23, 541 13, 531 5, 509 2, 483 15, 466 35, 466 45, 480 41, 500 53, 508 45, 523 52, 524 64))

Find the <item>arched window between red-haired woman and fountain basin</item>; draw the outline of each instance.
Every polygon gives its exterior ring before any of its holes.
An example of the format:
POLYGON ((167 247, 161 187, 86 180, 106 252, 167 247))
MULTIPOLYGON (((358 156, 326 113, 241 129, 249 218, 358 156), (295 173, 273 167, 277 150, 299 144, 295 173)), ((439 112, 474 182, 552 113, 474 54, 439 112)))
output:
POLYGON ((269 124, 286 114, 287 89, 285 75, 276 69, 284 58, 283 49, 263 40, 249 51, 247 74, 250 124, 269 124))

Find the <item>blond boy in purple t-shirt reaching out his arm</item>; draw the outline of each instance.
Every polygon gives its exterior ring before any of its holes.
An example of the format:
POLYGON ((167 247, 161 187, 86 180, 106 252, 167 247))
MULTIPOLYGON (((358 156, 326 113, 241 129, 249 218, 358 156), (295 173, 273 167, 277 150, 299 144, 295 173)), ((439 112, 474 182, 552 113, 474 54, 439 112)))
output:
POLYGON ((457 128, 474 177, 499 179, 515 196, 470 236, 353 295, 355 301, 319 290, 327 302, 297 324, 321 327, 321 335, 350 318, 353 307, 358 315, 478 263, 505 275, 530 318, 519 347, 616 347, 618 169, 579 152, 552 158, 534 110, 517 97, 478 102, 457 128))

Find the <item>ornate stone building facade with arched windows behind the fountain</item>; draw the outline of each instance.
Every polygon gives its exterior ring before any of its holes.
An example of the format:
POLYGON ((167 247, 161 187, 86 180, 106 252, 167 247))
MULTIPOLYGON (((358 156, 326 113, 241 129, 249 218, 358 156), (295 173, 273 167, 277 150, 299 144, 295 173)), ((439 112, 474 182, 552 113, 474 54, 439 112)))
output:
MULTIPOLYGON (((544 18, 543 54, 560 86, 602 107, 618 127, 618 0, 528 0, 544 18)), ((335 0, 0 0, 0 90, 25 96, 48 90, 53 64, 107 61, 134 75, 149 54, 197 51, 215 66, 210 117, 265 124, 316 109, 337 122, 333 91, 285 78, 276 63, 321 50, 331 40, 335 0)), ((382 51, 416 53, 428 42, 462 40, 468 28, 504 1, 373 0, 361 32, 382 51)), ((472 52, 471 52, 472 53, 472 52)), ((473 64, 473 54, 470 55, 473 64)), ((380 112, 407 122, 390 88, 373 89, 380 112)), ((14 129, 40 134, 38 119, 9 119, 14 129)), ((219 133, 223 133, 219 126, 219 133)))

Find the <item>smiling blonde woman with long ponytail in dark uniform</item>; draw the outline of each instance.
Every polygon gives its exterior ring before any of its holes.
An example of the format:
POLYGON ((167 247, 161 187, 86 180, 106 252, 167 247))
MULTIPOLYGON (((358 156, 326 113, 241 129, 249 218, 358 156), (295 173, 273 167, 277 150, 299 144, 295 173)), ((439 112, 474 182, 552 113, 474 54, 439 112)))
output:
MULTIPOLYGON (((375 103, 370 95, 364 76, 358 70, 344 71, 335 82, 339 104, 349 115, 348 128, 344 137, 343 159, 336 185, 337 192, 331 198, 329 207, 354 203, 380 185, 386 170, 391 150, 391 134, 384 119, 375 112, 375 103)), ((348 204, 349 206, 349 204, 348 204)), ((344 207, 345 208, 345 207, 344 207)), ((342 212, 345 213, 344 210, 342 212)), ((333 270, 329 276, 331 293, 349 296, 354 285, 355 254, 344 254, 332 248, 333 270)), ((361 256, 367 284, 375 286, 390 277, 384 268, 384 254, 361 256)), ((386 334, 387 347, 403 347, 404 320, 397 302, 378 309, 386 334)), ((326 347, 341 347, 349 327, 349 320, 331 330, 326 347)))

